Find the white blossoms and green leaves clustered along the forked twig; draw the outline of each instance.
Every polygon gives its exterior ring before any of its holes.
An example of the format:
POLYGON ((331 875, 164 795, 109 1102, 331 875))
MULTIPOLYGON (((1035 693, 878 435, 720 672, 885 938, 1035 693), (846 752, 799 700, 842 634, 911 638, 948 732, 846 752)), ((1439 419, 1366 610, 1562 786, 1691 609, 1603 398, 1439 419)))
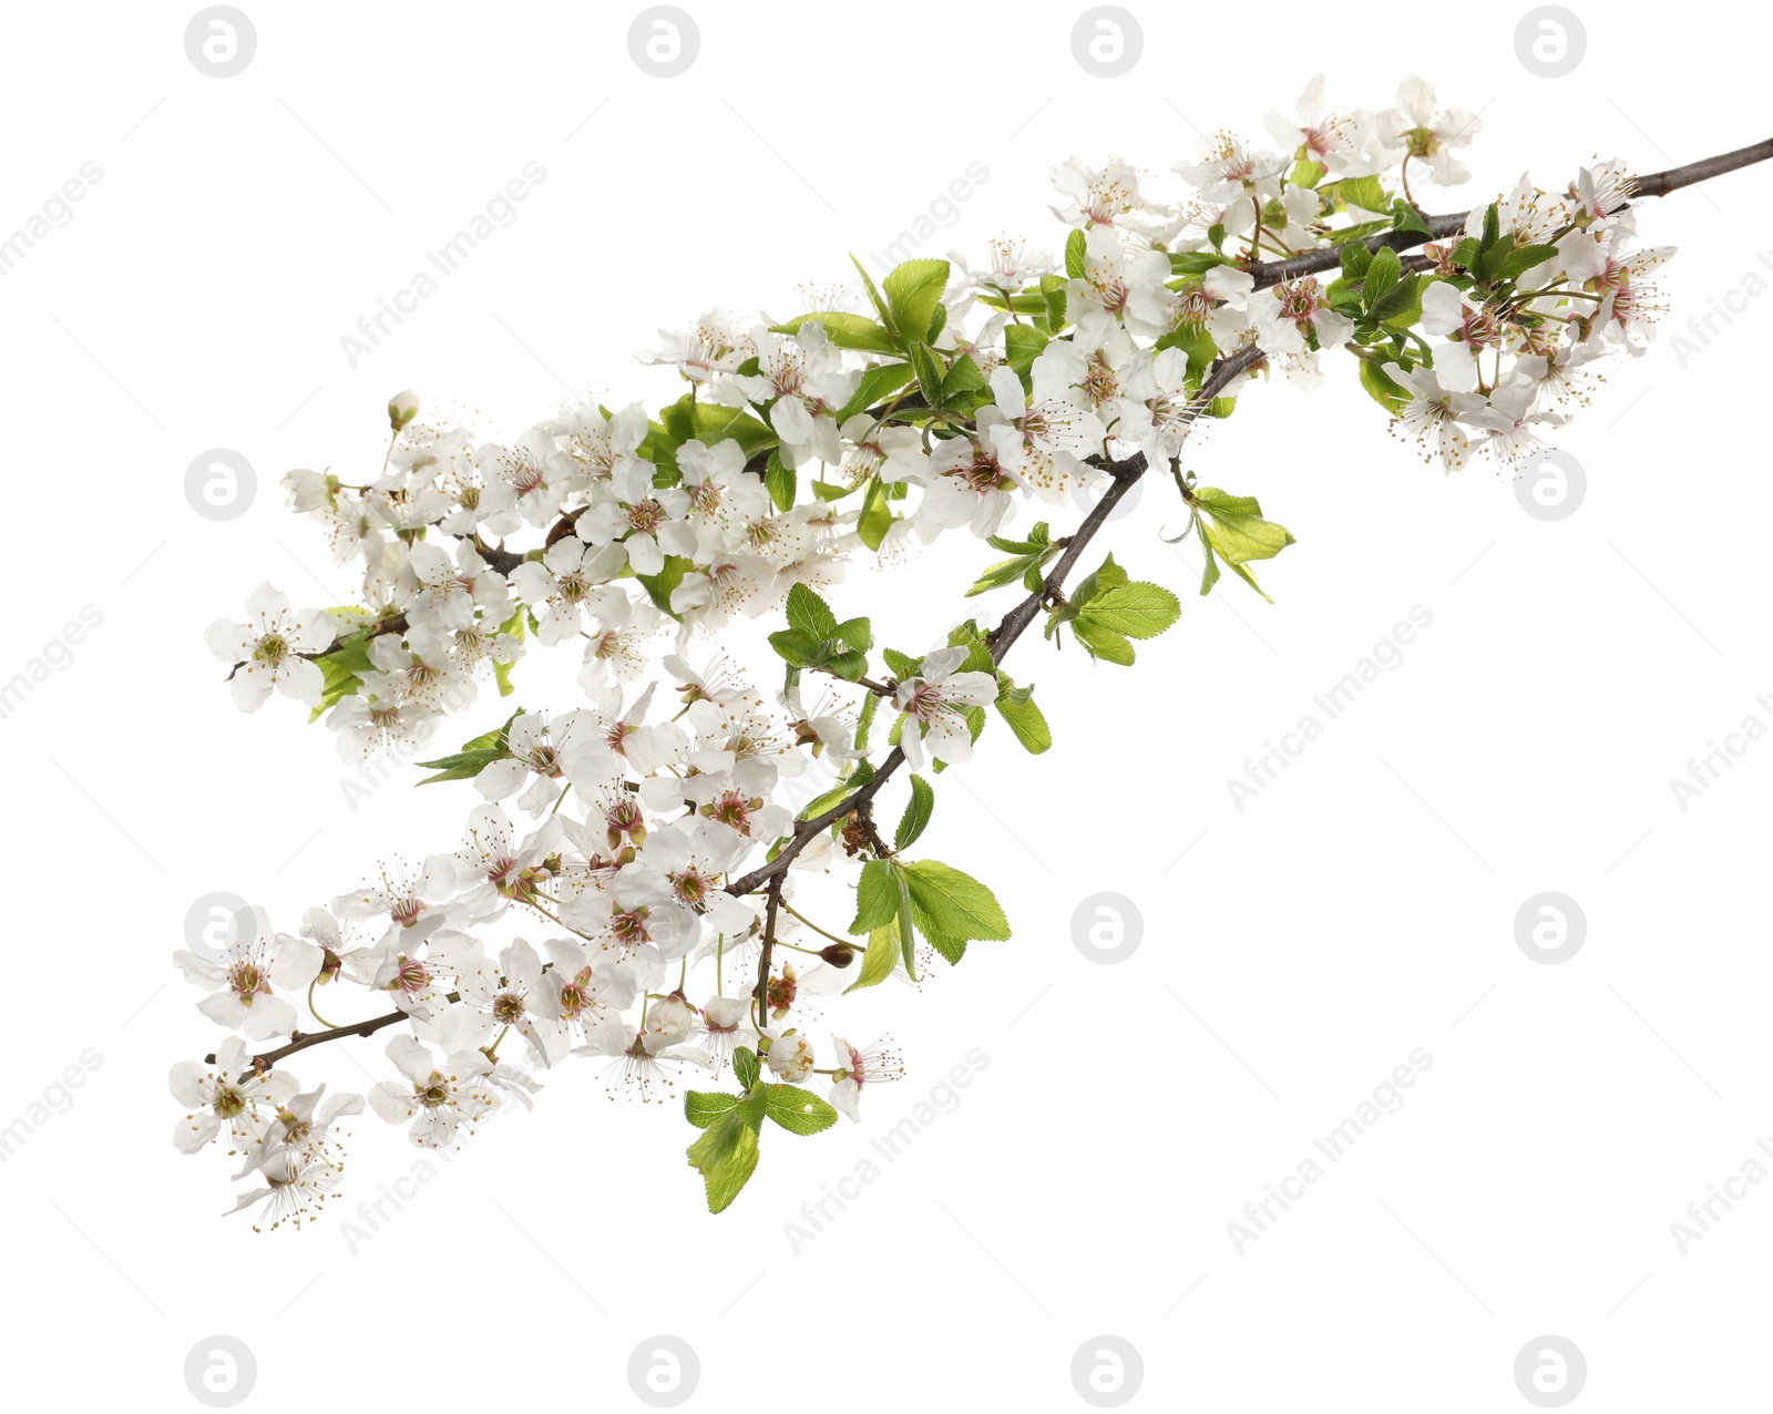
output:
POLYGON ((676 402, 573 404, 511 443, 420 423, 402 393, 376 475, 291 473, 293 507, 362 569, 362 602, 293 611, 262 585, 246 622, 215 624, 241 709, 275 688, 324 716, 348 760, 404 757, 482 689, 509 695, 534 643, 578 647, 582 702, 498 712, 429 762, 431 780, 479 796, 454 849, 381 866, 294 934, 248 909, 220 959, 177 955, 229 1029, 206 1063, 174 1068, 190 1109, 177 1146, 225 1134, 257 1185, 241 1203, 268 1198, 273 1226, 300 1223, 337 1189, 335 1125, 365 1099, 415 1145, 450 1145, 527 1107, 539 1072, 598 1056, 612 1092, 642 1099, 686 1070, 736 1077, 736 1093, 684 1095, 702 1129, 690 1162, 718 1210, 755 1166, 762 1120, 803 1134, 856 1118, 901 1065, 879 1044, 816 1042, 817 999, 1009 937, 984 884, 908 858, 933 785, 902 778, 890 842, 881 787, 901 765, 968 760, 988 709, 1027 750, 1050 746, 1000 666, 1043 613, 1048 638, 1069 629, 1128 664, 1129 640, 1179 611, 1112 558, 1060 592, 1108 505, 1064 539, 1046 521, 1007 533, 1023 507, 1087 507, 1161 470, 1202 540, 1202 594, 1220 565, 1255 587, 1252 562, 1293 537, 1181 464, 1197 423, 1229 416, 1255 374, 1310 383, 1344 351, 1394 425, 1452 470, 1477 447, 1512 464, 1582 397, 1590 363, 1642 347, 1645 276, 1668 252, 1633 252, 1622 165, 1560 193, 1523 179, 1457 216, 1417 207, 1420 186, 1468 177, 1456 152, 1477 128, 1415 78, 1372 112, 1330 110, 1319 78, 1296 117, 1269 113, 1275 149, 1220 135, 1177 163, 1177 202, 1126 163, 1057 168, 1057 259, 1000 239, 977 269, 863 273, 865 312, 706 314, 642 354, 688 383, 676 402), (1030 595, 995 629, 968 620, 906 654, 828 602, 856 558, 963 528, 1009 555, 972 592, 1030 595), (734 620, 764 617, 785 618, 773 695, 723 643, 734 620), (853 921, 805 904, 812 881, 847 891, 853 921), (323 1021, 353 989, 353 1015, 323 1021), (379 1006, 358 1019, 365 999, 379 1006), (390 1077, 367 1097, 289 1074, 300 1051, 383 1029, 390 1077))

